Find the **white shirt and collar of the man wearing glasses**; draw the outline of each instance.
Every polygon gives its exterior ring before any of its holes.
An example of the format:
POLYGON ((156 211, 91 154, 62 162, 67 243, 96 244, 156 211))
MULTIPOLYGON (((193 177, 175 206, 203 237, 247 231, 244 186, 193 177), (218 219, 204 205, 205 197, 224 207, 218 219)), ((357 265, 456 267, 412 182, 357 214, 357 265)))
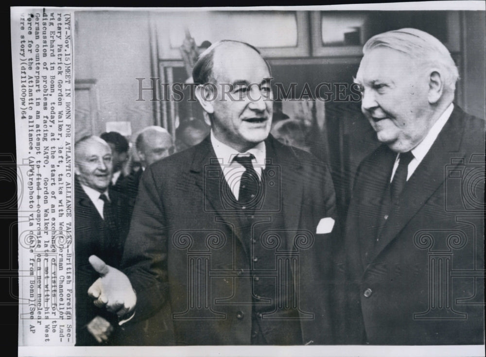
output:
POLYGON ((240 180, 243 172, 246 170, 243 165, 234 161, 233 158, 239 154, 253 154, 255 158, 251 161, 253 168, 257 172, 258 177, 261 179, 262 170, 265 170, 265 158, 266 158, 266 148, 265 142, 262 141, 256 146, 246 151, 245 153, 239 153, 238 150, 222 143, 215 136, 211 130, 211 145, 213 147, 214 153, 218 158, 218 162, 221 165, 221 170, 225 175, 225 180, 228 186, 231 188, 231 192, 238 200, 240 193, 240 180))

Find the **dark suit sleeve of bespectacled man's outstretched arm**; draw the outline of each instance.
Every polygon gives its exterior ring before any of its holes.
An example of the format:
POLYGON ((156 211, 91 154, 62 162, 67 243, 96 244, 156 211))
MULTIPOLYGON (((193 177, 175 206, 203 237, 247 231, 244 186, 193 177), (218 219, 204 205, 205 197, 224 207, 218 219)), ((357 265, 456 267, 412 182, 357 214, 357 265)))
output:
POLYGON ((167 226, 159 187, 148 168, 141 178, 122 260, 137 293, 134 320, 155 314, 168 299, 167 226))

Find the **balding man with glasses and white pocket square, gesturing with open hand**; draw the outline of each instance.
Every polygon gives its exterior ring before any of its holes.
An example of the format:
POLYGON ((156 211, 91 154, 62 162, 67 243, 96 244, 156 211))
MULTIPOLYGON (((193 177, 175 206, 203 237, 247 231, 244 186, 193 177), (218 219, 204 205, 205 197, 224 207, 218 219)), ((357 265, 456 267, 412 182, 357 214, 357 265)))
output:
POLYGON ((91 257, 101 274, 90 288, 95 302, 121 316, 135 311, 132 321, 158 311, 173 332, 158 344, 333 342, 330 172, 269 136, 270 76, 242 42, 201 55, 193 78, 211 133, 145 170, 122 293, 112 294, 121 284, 110 280, 124 275, 91 257))

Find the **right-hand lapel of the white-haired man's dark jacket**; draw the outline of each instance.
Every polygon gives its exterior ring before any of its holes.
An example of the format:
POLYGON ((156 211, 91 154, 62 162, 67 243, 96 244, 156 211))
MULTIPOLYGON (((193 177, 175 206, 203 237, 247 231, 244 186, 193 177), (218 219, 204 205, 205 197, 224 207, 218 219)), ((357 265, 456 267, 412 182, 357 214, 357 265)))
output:
POLYGON ((407 181, 399 201, 392 207, 372 259, 376 258, 398 236, 417 211, 442 185, 445 179, 445 166, 451 164, 451 158, 464 156, 464 153, 459 152, 463 130, 463 117, 456 106, 429 152, 407 181))

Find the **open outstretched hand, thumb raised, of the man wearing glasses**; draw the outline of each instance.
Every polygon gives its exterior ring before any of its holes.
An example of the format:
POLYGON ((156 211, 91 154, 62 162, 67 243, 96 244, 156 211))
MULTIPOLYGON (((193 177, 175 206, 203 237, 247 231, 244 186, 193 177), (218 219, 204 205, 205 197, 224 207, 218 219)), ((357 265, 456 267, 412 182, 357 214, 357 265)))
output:
POLYGON ((89 263, 100 277, 88 289, 88 295, 95 299, 97 307, 106 306, 121 319, 131 314, 137 304, 137 295, 128 277, 118 269, 106 265, 96 255, 89 257, 89 263))

